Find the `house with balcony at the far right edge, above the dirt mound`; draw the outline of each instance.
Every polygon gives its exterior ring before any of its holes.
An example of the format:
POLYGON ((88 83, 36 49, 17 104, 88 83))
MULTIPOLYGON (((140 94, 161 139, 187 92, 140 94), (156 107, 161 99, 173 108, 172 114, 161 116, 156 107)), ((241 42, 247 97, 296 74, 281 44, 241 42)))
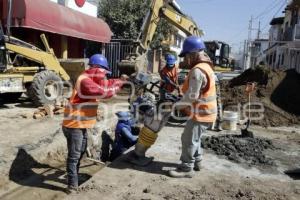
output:
POLYGON ((285 16, 270 22, 267 65, 272 69, 295 69, 300 73, 300 0, 290 1, 285 16))

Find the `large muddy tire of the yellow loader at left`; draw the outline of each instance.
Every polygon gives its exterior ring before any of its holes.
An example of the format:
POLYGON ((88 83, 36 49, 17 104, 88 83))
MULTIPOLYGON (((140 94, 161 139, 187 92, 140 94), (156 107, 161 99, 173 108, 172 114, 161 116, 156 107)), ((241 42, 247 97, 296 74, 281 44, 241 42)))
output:
POLYGON ((52 104, 62 95, 63 84, 59 76, 46 70, 35 75, 28 90, 29 97, 35 105, 52 104))

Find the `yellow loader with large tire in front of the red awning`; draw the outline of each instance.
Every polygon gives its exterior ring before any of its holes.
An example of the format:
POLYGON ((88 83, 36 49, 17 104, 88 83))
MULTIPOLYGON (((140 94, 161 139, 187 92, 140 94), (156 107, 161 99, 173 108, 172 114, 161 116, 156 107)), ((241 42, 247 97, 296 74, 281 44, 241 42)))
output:
POLYGON ((23 92, 36 105, 53 103, 62 95, 63 81, 70 77, 60 65, 45 35, 46 51, 0 34, 0 97, 17 99, 23 92))

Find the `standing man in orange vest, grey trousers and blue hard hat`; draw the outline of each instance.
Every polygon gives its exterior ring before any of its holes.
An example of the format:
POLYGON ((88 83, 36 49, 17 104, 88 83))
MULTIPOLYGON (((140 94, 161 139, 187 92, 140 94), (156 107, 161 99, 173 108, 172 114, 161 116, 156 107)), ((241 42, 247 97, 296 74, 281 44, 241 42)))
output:
POLYGON ((179 57, 189 66, 189 74, 183 84, 183 97, 179 108, 190 117, 181 136, 181 165, 169 171, 171 177, 192 177, 200 170, 202 160, 201 135, 217 117, 216 87, 213 65, 204 52, 200 37, 187 37, 179 57), (183 105, 185 104, 185 105, 183 105))

